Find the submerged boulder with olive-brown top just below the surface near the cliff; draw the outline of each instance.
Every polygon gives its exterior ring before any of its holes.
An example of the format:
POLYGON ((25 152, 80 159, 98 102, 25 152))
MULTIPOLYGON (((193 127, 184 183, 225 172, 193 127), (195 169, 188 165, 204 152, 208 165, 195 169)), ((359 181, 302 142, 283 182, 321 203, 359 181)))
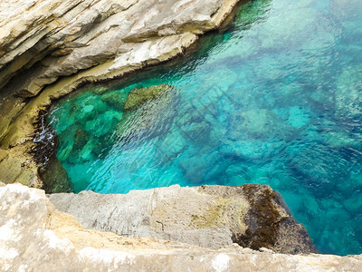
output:
POLYGON ((120 139, 138 142, 166 133, 175 117, 178 93, 176 88, 161 84, 133 89, 125 105, 122 119, 117 125, 120 139))

